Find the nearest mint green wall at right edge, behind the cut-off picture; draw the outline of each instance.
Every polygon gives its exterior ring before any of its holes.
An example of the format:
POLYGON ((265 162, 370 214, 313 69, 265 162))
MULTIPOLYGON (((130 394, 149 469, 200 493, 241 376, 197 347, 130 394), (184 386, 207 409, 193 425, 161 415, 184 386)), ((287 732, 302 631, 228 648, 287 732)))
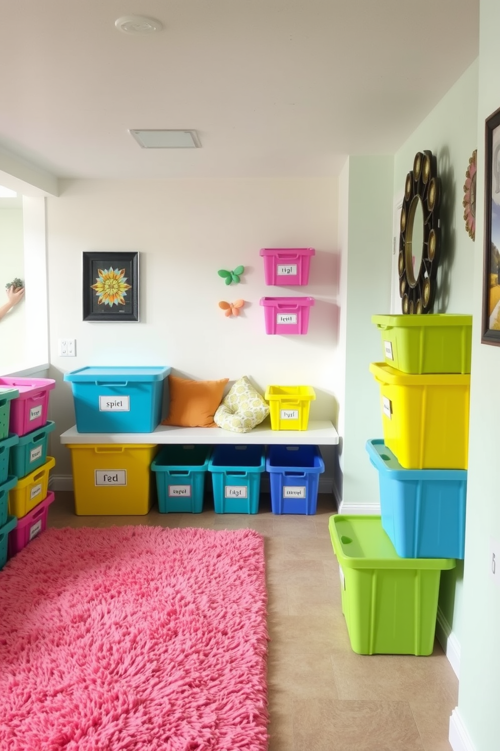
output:
POLYGON ((500 107, 500 3, 481 0, 478 87, 478 217, 474 252, 471 417, 458 714, 475 751, 500 747, 500 588, 490 537, 500 541, 500 349, 481 344, 484 121, 500 107))

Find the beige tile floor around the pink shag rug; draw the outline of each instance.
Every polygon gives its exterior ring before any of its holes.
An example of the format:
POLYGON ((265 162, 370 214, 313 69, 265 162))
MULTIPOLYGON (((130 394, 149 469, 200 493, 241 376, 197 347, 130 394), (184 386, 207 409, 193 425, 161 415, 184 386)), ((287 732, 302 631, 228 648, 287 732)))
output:
MULTIPOLYGON (((205 508, 213 508, 211 499, 205 508)), ((73 494, 56 493, 49 526, 151 524, 251 527, 265 537, 268 581, 268 751, 450 751, 448 723, 458 681, 436 641, 429 657, 352 652, 328 534, 331 496, 315 516, 259 514, 77 517, 73 494)))

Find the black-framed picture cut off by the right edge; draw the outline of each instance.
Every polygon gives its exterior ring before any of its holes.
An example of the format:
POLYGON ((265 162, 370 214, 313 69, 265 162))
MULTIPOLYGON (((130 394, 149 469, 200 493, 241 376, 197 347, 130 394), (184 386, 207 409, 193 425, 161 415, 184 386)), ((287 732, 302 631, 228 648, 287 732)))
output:
POLYGON ((500 108, 485 122, 482 344, 500 346, 500 108))

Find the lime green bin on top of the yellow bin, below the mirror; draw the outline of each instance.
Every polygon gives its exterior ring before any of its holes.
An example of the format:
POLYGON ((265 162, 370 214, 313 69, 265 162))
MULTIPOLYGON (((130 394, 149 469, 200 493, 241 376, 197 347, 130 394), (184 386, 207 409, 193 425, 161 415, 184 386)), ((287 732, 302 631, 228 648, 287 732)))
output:
POLYGON ((472 315, 372 315, 385 362, 404 373, 470 373, 472 315))

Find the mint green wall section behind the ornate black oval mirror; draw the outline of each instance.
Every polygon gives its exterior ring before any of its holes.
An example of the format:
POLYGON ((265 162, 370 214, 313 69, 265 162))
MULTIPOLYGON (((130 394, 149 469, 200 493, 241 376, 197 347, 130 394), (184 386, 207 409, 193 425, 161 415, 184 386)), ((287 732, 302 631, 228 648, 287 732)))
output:
MULTIPOLYGON (((478 146, 478 69, 476 60, 448 91, 394 157, 394 195, 403 193, 418 151, 436 155, 442 185, 442 257, 435 312, 472 312, 472 268, 478 253, 463 220, 463 183, 469 157, 478 146)), ((481 252, 481 250, 479 250, 481 252)), ((460 643, 463 633, 463 563, 442 573, 439 609, 460 643)))

